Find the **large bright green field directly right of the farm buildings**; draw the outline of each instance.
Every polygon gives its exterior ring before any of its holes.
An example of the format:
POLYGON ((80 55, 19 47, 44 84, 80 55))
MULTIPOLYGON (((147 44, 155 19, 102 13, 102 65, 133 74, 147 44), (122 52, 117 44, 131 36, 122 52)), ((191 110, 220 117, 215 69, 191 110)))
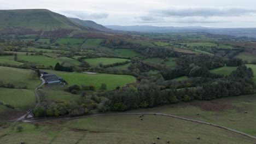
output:
POLYGON ((69 86, 72 85, 93 85, 96 89, 100 88, 101 83, 106 83, 107 89, 115 89, 118 86, 125 86, 127 83, 136 82, 135 77, 130 75, 112 75, 112 74, 80 74, 67 73, 63 71, 45 70, 63 77, 69 86))

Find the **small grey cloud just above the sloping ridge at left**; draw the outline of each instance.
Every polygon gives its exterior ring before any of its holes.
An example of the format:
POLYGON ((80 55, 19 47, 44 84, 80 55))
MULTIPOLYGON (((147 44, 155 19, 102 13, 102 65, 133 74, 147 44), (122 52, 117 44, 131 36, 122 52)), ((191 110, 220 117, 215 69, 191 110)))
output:
POLYGON ((77 17, 83 20, 88 19, 104 19, 108 17, 107 13, 90 13, 88 11, 78 11, 78 10, 62 10, 62 14, 68 15, 70 17, 77 17))

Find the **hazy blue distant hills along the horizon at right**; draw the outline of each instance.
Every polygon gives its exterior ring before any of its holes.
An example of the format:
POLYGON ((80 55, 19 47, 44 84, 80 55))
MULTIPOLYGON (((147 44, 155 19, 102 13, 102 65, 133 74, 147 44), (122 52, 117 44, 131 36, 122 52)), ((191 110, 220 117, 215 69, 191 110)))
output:
POLYGON ((256 38, 256 28, 210 28, 210 27, 155 27, 155 26, 106 26, 119 31, 136 32, 207 32, 213 34, 228 34, 236 37, 256 38))

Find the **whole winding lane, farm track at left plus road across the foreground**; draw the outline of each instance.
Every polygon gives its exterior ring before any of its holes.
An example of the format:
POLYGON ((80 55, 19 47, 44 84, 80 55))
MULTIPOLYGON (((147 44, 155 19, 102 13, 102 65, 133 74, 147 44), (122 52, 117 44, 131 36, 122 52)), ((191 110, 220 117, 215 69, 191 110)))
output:
MULTIPOLYGON (((45 83, 45 80, 43 79, 42 74, 40 76, 40 80, 42 81, 42 83, 34 89, 34 94, 36 95, 36 98, 37 98, 37 105, 40 104, 40 97, 37 93, 37 90, 38 90, 39 87, 41 87, 45 83)), ((218 124, 214 124, 214 123, 208 123, 208 122, 203 122, 203 121, 199 121, 199 120, 196 120, 196 119, 190 119, 190 118, 180 117, 180 116, 176 116, 176 115, 170 115, 170 114, 167 114, 167 113, 122 112, 122 113, 99 113, 99 114, 94 114, 94 115, 77 116, 77 117, 68 117, 68 116, 66 116, 66 117, 44 117, 44 118, 26 119, 26 117, 31 113, 31 111, 32 110, 27 111, 27 113, 25 115, 18 118, 15 122, 22 121, 22 122, 30 123, 30 122, 49 121, 49 120, 56 120, 56 119, 72 120, 72 119, 79 119, 79 118, 86 118, 86 117, 93 117, 93 116, 113 116, 113 115, 157 115, 157 116, 166 116, 166 117, 178 118, 178 119, 182 119, 184 121, 190 121, 190 122, 195 122, 195 123, 200 123, 200 124, 211 125, 213 127, 229 130, 229 131, 232 131, 234 133, 241 134, 241 135, 244 135, 244 136, 247 136, 247 137, 251 137, 252 139, 256 140, 256 136, 243 133, 242 131, 231 129, 231 128, 224 127, 222 125, 218 125, 218 124)))

